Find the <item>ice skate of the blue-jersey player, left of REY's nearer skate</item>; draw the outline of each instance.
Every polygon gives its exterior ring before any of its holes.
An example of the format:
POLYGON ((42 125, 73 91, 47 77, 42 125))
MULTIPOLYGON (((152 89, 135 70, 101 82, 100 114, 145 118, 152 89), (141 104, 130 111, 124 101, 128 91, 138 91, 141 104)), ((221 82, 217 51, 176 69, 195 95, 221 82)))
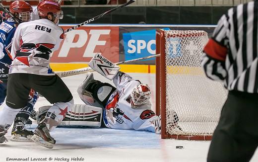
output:
POLYGON ((11 131, 11 141, 28 141, 33 136, 33 132, 25 129, 24 123, 27 120, 23 117, 17 117, 11 131))

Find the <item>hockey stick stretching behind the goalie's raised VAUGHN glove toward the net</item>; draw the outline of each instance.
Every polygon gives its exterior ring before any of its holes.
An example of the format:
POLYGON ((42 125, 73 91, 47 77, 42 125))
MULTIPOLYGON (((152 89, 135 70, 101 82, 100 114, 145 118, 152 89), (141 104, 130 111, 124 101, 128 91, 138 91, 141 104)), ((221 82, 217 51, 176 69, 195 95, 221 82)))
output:
MULTIPOLYGON (((125 63, 131 63, 131 62, 140 61, 140 60, 146 60, 146 59, 155 58, 155 57, 159 57, 159 56, 160 56, 160 54, 156 54, 156 55, 146 56, 146 57, 142 57, 142 58, 138 58, 138 59, 121 61, 121 62, 116 63, 116 65, 125 64, 125 63)), ((68 76, 74 76, 74 75, 79 75, 79 74, 83 74, 83 73, 88 73, 88 72, 91 72, 91 71, 92 71, 92 69, 90 67, 87 67, 87 68, 80 68, 80 69, 75 69, 75 70, 70 70, 70 71, 65 71, 65 72, 58 72, 56 74, 60 78, 63 78, 63 77, 68 77, 68 76)))

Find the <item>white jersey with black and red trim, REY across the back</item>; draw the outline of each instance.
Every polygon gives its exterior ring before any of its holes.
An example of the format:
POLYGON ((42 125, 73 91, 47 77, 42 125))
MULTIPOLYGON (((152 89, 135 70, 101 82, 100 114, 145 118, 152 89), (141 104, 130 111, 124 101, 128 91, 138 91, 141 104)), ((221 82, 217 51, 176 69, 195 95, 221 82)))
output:
POLYGON ((50 69, 50 54, 64 38, 64 30, 48 19, 19 24, 13 37, 9 74, 55 75, 50 69))

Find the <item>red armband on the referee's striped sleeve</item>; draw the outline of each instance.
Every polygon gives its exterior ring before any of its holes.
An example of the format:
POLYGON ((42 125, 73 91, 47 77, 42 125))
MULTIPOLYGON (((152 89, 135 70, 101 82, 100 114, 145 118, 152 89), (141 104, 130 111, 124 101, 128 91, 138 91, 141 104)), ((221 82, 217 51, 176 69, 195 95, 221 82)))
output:
POLYGON ((220 61, 225 61, 228 53, 228 49, 225 46, 218 44, 213 39, 209 39, 203 51, 206 55, 220 61))

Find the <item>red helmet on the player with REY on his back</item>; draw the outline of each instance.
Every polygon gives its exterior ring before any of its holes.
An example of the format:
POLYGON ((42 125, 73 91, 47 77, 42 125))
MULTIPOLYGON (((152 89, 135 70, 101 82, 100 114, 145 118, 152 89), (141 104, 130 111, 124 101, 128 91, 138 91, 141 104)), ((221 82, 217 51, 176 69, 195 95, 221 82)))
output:
POLYGON ((42 17, 48 16, 48 13, 53 13, 59 19, 63 18, 61 5, 56 0, 43 0, 38 4, 39 15, 42 17), (59 14, 57 14, 60 12, 59 14))

